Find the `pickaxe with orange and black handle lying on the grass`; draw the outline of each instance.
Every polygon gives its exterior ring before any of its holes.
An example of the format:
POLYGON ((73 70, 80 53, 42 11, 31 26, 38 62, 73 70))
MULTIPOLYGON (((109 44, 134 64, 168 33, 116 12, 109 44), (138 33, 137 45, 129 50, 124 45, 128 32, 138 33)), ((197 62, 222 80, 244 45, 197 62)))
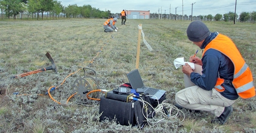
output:
POLYGON ((45 54, 45 56, 51 61, 51 63, 52 63, 51 66, 46 67, 46 68, 42 68, 42 69, 38 69, 38 70, 35 70, 35 71, 19 74, 17 76, 11 77, 11 78, 24 77, 24 76, 28 76, 28 75, 35 74, 35 73, 44 72, 44 71, 47 71, 47 70, 54 70, 57 74, 58 72, 57 72, 57 69, 56 69, 56 66, 55 66, 55 63, 53 61, 52 56, 50 56, 50 53, 48 53, 48 52, 45 54))

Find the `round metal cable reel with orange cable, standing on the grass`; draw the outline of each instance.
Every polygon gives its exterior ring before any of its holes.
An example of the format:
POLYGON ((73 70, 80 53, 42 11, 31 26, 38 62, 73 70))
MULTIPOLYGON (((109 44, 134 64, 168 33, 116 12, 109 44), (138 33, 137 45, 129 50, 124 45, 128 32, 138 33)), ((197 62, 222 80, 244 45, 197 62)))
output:
MULTIPOLYGON (((96 100, 91 100, 86 95, 88 92, 90 92, 92 90, 100 89, 98 82, 97 82, 97 75, 96 75, 95 70, 87 68, 87 67, 83 68, 83 72, 84 72, 85 76, 82 78, 76 79, 73 84, 74 97, 79 104, 83 104, 86 106, 94 106, 94 103, 96 100), (93 78, 91 76, 86 76, 85 69, 91 70, 93 72, 93 74, 95 75, 95 78, 93 78)), ((99 96, 99 92, 90 93, 88 96, 90 98, 97 98, 99 96)))

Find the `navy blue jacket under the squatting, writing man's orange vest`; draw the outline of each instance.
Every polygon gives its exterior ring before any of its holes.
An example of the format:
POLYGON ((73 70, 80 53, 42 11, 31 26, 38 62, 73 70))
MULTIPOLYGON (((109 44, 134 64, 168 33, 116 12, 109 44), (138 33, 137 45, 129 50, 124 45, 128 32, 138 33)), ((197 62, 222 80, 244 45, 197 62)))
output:
MULTIPOLYGON (((217 32, 212 32, 209 37, 204 40, 201 49, 204 49, 206 45, 209 44, 217 35, 217 32)), ((217 50, 209 49, 204 53, 201 60, 203 63, 203 74, 200 75, 195 72, 190 74, 191 81, 195 85, 198 85, 204 90, 212 90, 216 84, 218 72, 220 74, 220 78, 233 81, 234 64, 227 56, 217 50)), ((235 100, 239 97, 231 83, 223 83, 222 86, 225 88, 225 91, 222 92, 221 95, 225 98, 235 100)))

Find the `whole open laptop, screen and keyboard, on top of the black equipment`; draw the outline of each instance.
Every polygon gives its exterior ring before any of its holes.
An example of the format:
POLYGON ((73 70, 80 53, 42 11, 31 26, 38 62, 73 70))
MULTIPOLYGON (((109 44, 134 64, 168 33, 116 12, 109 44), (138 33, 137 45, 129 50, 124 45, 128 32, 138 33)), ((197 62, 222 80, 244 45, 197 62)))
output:
POLYGON ((152 98, 152 99, 159 100, 164 95, 164 93, 166 92, 165 90, 145 87, 143 82, 142 82, 142 78, 140 77, 138 69, 135 69, 135 70, 129 72, 128 74, 126 74, 126 75, 127 75, 128 80, 131 84, 131 87, 133 89, 136 90, 137 88, 142 88, 144 93, 148 93, 149 95, 153 95, 153 96, 150 96, 150 98, 152 98))

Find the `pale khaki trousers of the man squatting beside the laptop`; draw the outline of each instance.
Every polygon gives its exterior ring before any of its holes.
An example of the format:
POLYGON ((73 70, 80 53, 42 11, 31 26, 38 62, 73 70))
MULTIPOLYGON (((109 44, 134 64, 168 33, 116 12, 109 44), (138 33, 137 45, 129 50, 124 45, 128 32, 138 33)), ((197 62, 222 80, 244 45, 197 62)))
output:
MULTIPOLYGON (((202 66, 195 64, 194 72, 202 74, 202 66)), ((186 88, 175 95, 176 103, 184 108, 207 111, 219 117, 225 106, 231 106, 235 102, 225 98, 214 88, 203 90, 192 83, 186 74, 184 74, 184 83, 186 88)))

